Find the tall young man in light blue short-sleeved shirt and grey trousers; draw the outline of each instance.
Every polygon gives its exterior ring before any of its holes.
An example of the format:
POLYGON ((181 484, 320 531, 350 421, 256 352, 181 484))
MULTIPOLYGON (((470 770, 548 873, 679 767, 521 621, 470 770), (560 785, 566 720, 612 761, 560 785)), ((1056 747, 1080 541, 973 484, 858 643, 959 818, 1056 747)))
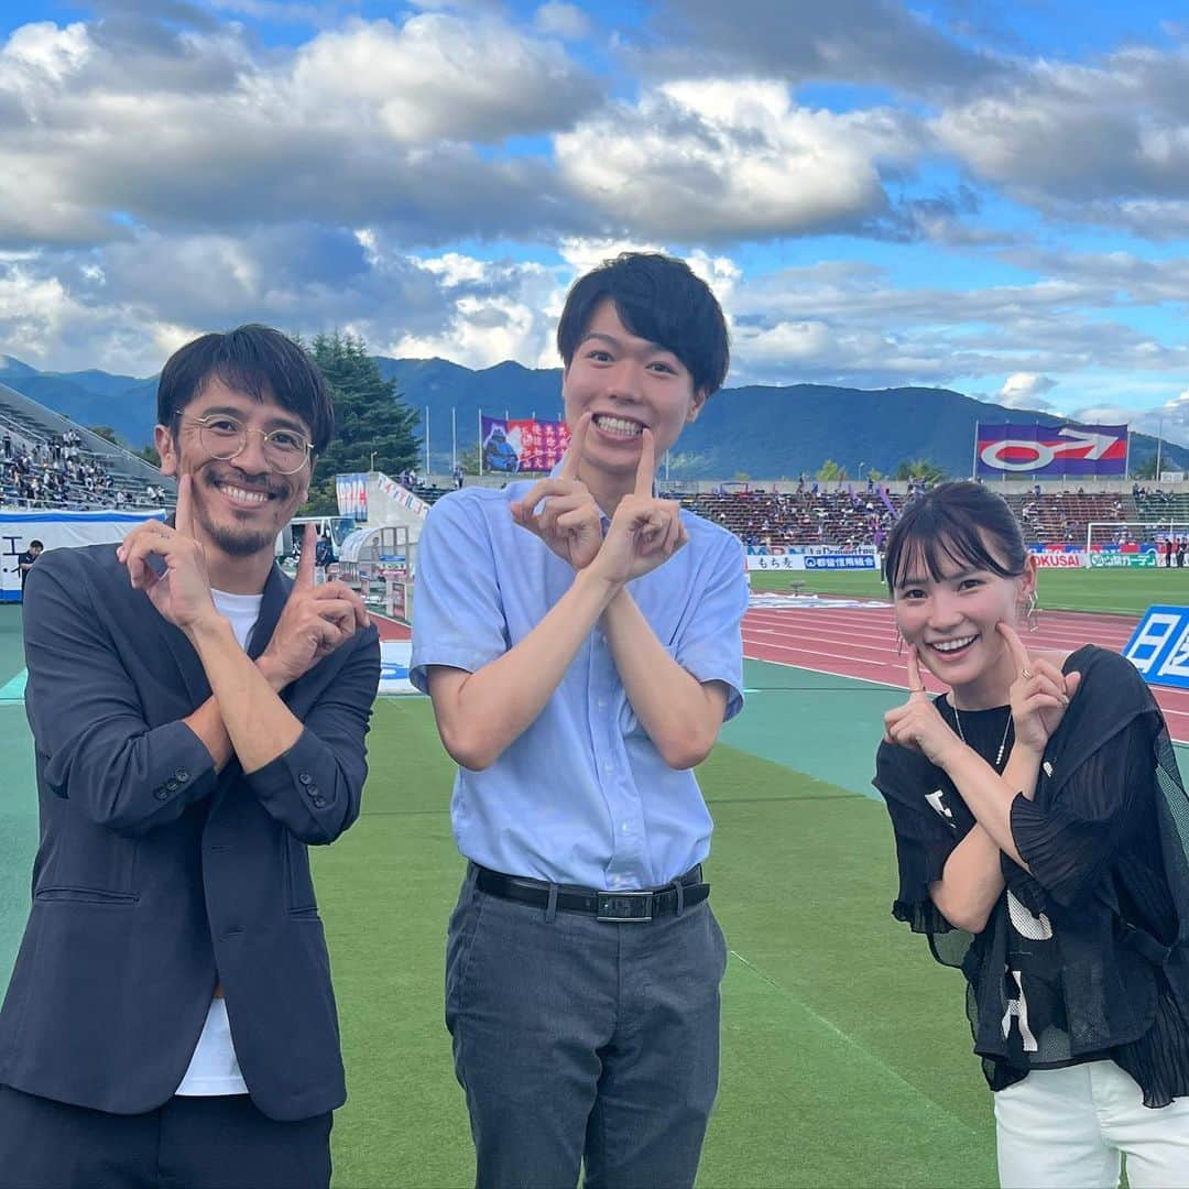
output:
POLYGON ((419 545, 413 680, 470 860, 447 1023, 480 1185, 691 1185, 726 949, 690 769, 742 705, 747 581, 653 480, 726 327, 687 265, 631 253, 574 284, 558 346, 564 463, 446 496, 419 545))

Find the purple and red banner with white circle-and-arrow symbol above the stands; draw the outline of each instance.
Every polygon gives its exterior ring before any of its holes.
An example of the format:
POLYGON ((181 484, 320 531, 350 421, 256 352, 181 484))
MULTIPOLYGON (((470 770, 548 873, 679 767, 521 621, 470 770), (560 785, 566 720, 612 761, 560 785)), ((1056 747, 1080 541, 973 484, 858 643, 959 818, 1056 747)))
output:
POLYGON ((981 476, 1122 477, 1127 471, 1126 426, 979 426, 975 452, 981 476))

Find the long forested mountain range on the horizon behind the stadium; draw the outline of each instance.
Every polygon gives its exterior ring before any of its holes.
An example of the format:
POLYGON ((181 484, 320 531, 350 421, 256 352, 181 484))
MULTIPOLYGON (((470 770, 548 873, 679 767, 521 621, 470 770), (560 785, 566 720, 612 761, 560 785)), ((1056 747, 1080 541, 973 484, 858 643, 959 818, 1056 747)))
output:
MULTIPOLYGON (((432 470, 438 473, 449 470, 452 447, 461 452, 474 446, 480 409, 489 416, 561 416, 560 369, 502 363, 474 371, 445 359, 385 357, 377 363, 417 410, 422 434, 428 414, 432 470)), ((43 372, 0 356, 0 383, 81 424, 111 426, 133 449, 152 440, 156 377, 43 372)), ((939 388, 747 385, 710 398, 686 427, 669 466, 673 478, 780 479, 814 473, 826 459, 851 476, 872 467, 891 474, 901 461, 927 459, 948 474, 962 476, 970 473, 980 421, 1059 426, 1064 420, 939 388)), ((1155 438, 1133 434, 1133 467, 1156 449, 1155 438)), ((1162 453, 1162 468, 1189 471, 1189 449, 1165 441, 1162 453)))

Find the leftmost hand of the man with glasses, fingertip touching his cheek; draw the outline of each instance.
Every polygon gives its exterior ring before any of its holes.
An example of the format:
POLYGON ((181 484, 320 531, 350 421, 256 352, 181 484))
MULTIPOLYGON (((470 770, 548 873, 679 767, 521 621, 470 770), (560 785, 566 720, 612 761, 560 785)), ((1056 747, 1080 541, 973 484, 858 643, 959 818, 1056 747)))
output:
POLYGON ((133 589, 144 591, 157 611, 183 631, 202 618, 219 615, 210 597, 206 552, 194 536, 193 484, 188 474, 178 480, 172 528, 161 521, 145 521, 115 551, 133 589), (149 564, 152 556, 165 562, 163 574, 158 575, 149 564))

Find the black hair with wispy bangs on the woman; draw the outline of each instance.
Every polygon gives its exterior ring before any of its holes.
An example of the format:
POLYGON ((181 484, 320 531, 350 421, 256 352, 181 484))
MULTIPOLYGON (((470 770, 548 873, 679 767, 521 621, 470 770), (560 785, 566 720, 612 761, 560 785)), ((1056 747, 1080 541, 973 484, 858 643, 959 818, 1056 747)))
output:
POLYGON ((1000 578, 1019 578, 1027 548, 1019 521, 1002 496, 980 483, 956 479, 905 504, 887 541, 885 574, 888 590, 908 577, 917 558, 933 581, 942 579, 942 559, 974 570, 989 570, 1000 578), (998 552, 998 556, 995 552, 998 552))

